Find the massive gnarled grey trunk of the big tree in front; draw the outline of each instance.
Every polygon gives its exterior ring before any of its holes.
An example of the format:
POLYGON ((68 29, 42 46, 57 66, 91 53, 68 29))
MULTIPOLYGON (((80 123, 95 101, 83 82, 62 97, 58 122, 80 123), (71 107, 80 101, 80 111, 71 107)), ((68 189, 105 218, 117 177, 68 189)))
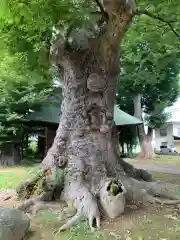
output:
POLYGON ((173 188, 170 192, 167 185, 151 182, 148 173, 120 158, 113 109, 119 44, 132 20, 132 6, 125 0, 103 2, 109 15, 106 29, 87 49, 70 51, 57 45, 51 49, 61 66, 64 100, 56 137, 42 166, 52 189, 57 167, 64 167, 61 199, 77 210, 60 230, 71 227, 81 216, 89 220, 92 229, 94 220, 99 227, 97 202, 114 218, 123 213, 125 199, 154 201, 157 194, 177 198, 173 188))

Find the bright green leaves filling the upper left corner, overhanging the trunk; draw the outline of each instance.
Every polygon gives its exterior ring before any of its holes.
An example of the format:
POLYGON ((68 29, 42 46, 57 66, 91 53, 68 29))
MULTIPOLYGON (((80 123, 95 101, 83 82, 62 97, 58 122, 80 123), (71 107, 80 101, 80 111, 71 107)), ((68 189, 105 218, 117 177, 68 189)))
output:
MULTIPOLYGON (((69 29, 90 22, 96 4, 85 0, 3 0, 1 36, 13 52, 23 52, 32 69, 46 74, 52 29, 69 29)), ((96 14, 93 14, 93 18, 96 14)))

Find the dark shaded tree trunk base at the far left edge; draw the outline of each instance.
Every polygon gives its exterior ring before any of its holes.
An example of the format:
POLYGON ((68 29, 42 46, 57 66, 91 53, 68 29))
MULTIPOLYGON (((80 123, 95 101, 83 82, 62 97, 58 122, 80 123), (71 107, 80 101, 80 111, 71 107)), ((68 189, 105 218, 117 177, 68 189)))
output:
POLYGON ((21 163, 20 143, 4 144, 0 153, 0 165, 15 166, 21 163))

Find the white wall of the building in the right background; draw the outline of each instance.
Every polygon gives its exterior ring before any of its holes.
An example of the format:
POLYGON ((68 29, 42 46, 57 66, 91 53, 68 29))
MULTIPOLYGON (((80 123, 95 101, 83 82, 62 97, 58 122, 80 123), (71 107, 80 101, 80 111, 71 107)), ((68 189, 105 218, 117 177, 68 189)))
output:
POLYGON ((173 125, 172 123, 166 124, 161 129, 167 129, 167 136, 162 137, 160 135, 160 128, 155 129, 155 149, 160 151, 161 142, 167 142, 168 146, 174 146, 174 139, 173 139, 173 125))

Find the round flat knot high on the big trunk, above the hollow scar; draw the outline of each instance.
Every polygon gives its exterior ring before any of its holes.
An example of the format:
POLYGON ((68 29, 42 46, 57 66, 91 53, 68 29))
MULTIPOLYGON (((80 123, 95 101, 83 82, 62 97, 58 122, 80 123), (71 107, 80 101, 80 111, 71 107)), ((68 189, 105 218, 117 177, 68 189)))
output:
POLYGON ((106 79, 97 73, 92 73, 87 79, 87 88, 92 92, 104 92, 107 88, 106 79))

